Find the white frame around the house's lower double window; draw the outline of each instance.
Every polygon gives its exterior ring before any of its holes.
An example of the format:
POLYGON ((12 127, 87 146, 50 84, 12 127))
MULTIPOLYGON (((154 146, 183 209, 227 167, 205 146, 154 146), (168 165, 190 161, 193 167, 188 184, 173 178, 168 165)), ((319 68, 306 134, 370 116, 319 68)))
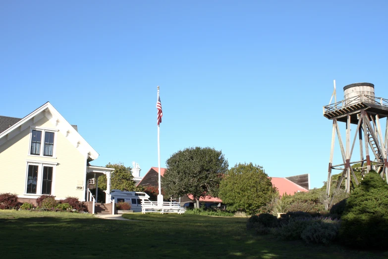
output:
MULTIPOLYGON (((55 169, 57 166, 57 163, 51 163, 51 162, 44 162, 44 161, 29 161, 27 160, 27 165, 26 165, 26 176, 25 176, 25 182, 24 182, 24 194, 25 196, 29 197, 34 197, 36 196, 39 197, 42 195, 42 182, 43 182, 43 167, 44 166, 49 166, 53 167, 53 181, 51 183, 51 194, 55 196, 55 169), (29 165, 37 165, 38 166, 38 178, 37 178, 37 183, 36 183, 36 194, 27 194, 27 182, 28 182, 28 166, 29 165)), ((48 194, 45 194, 48 195, 48 194)))

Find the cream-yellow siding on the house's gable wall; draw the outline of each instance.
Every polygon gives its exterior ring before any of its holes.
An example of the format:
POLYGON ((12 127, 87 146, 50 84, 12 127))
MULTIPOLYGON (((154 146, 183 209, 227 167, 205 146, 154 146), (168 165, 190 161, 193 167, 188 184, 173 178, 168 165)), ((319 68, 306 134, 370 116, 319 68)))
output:
MULTIPOLYGON (((56 129, 55 125, 46 117, 43 117, 32 127, 56 129)), ((55 132, 56 158, 28 155, 30 128, 23 130, 0 145, 0 193, 25 194, 28 160, 58 163, 54 169, 54 192, 52 194, 57 199, 73 196, 84 200, 85 191, 76 188, 77 185, 85 186, 86 154, 85 156, 82 155, 63 133, 60 131, 55 132)))

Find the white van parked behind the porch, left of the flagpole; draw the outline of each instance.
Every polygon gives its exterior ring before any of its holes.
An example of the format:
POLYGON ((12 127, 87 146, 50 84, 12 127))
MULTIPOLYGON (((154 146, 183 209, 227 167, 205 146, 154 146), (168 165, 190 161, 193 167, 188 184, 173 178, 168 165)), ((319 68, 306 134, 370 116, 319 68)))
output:
POLYGON ((114 203, 128 202, 131 205, 133 212, 141 212, 141 201, 150 201, 150 196, 141 192, 123 192, 120 190, 111 191, 111 199, 114 199, 114 203))

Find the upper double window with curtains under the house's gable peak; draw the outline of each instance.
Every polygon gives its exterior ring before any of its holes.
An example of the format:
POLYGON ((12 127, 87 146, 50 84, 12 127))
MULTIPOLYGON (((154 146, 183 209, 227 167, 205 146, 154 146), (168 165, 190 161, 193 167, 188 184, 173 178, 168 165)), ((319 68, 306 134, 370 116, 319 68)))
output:
POLYGON ((30 155, 55 156, 55 129, 32 129, 30 155))

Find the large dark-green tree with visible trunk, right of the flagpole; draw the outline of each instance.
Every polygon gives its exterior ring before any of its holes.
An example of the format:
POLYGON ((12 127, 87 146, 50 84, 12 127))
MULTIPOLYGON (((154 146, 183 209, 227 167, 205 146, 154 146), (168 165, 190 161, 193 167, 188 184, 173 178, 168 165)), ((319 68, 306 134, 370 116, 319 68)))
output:
POLYGON ((172 154, 166 167, 162 181, 166 194, 192 194, 194 204, 199 208, 200 197, 217 197, 228 163, 222 152, 214 148, 190 147, 172 154))

